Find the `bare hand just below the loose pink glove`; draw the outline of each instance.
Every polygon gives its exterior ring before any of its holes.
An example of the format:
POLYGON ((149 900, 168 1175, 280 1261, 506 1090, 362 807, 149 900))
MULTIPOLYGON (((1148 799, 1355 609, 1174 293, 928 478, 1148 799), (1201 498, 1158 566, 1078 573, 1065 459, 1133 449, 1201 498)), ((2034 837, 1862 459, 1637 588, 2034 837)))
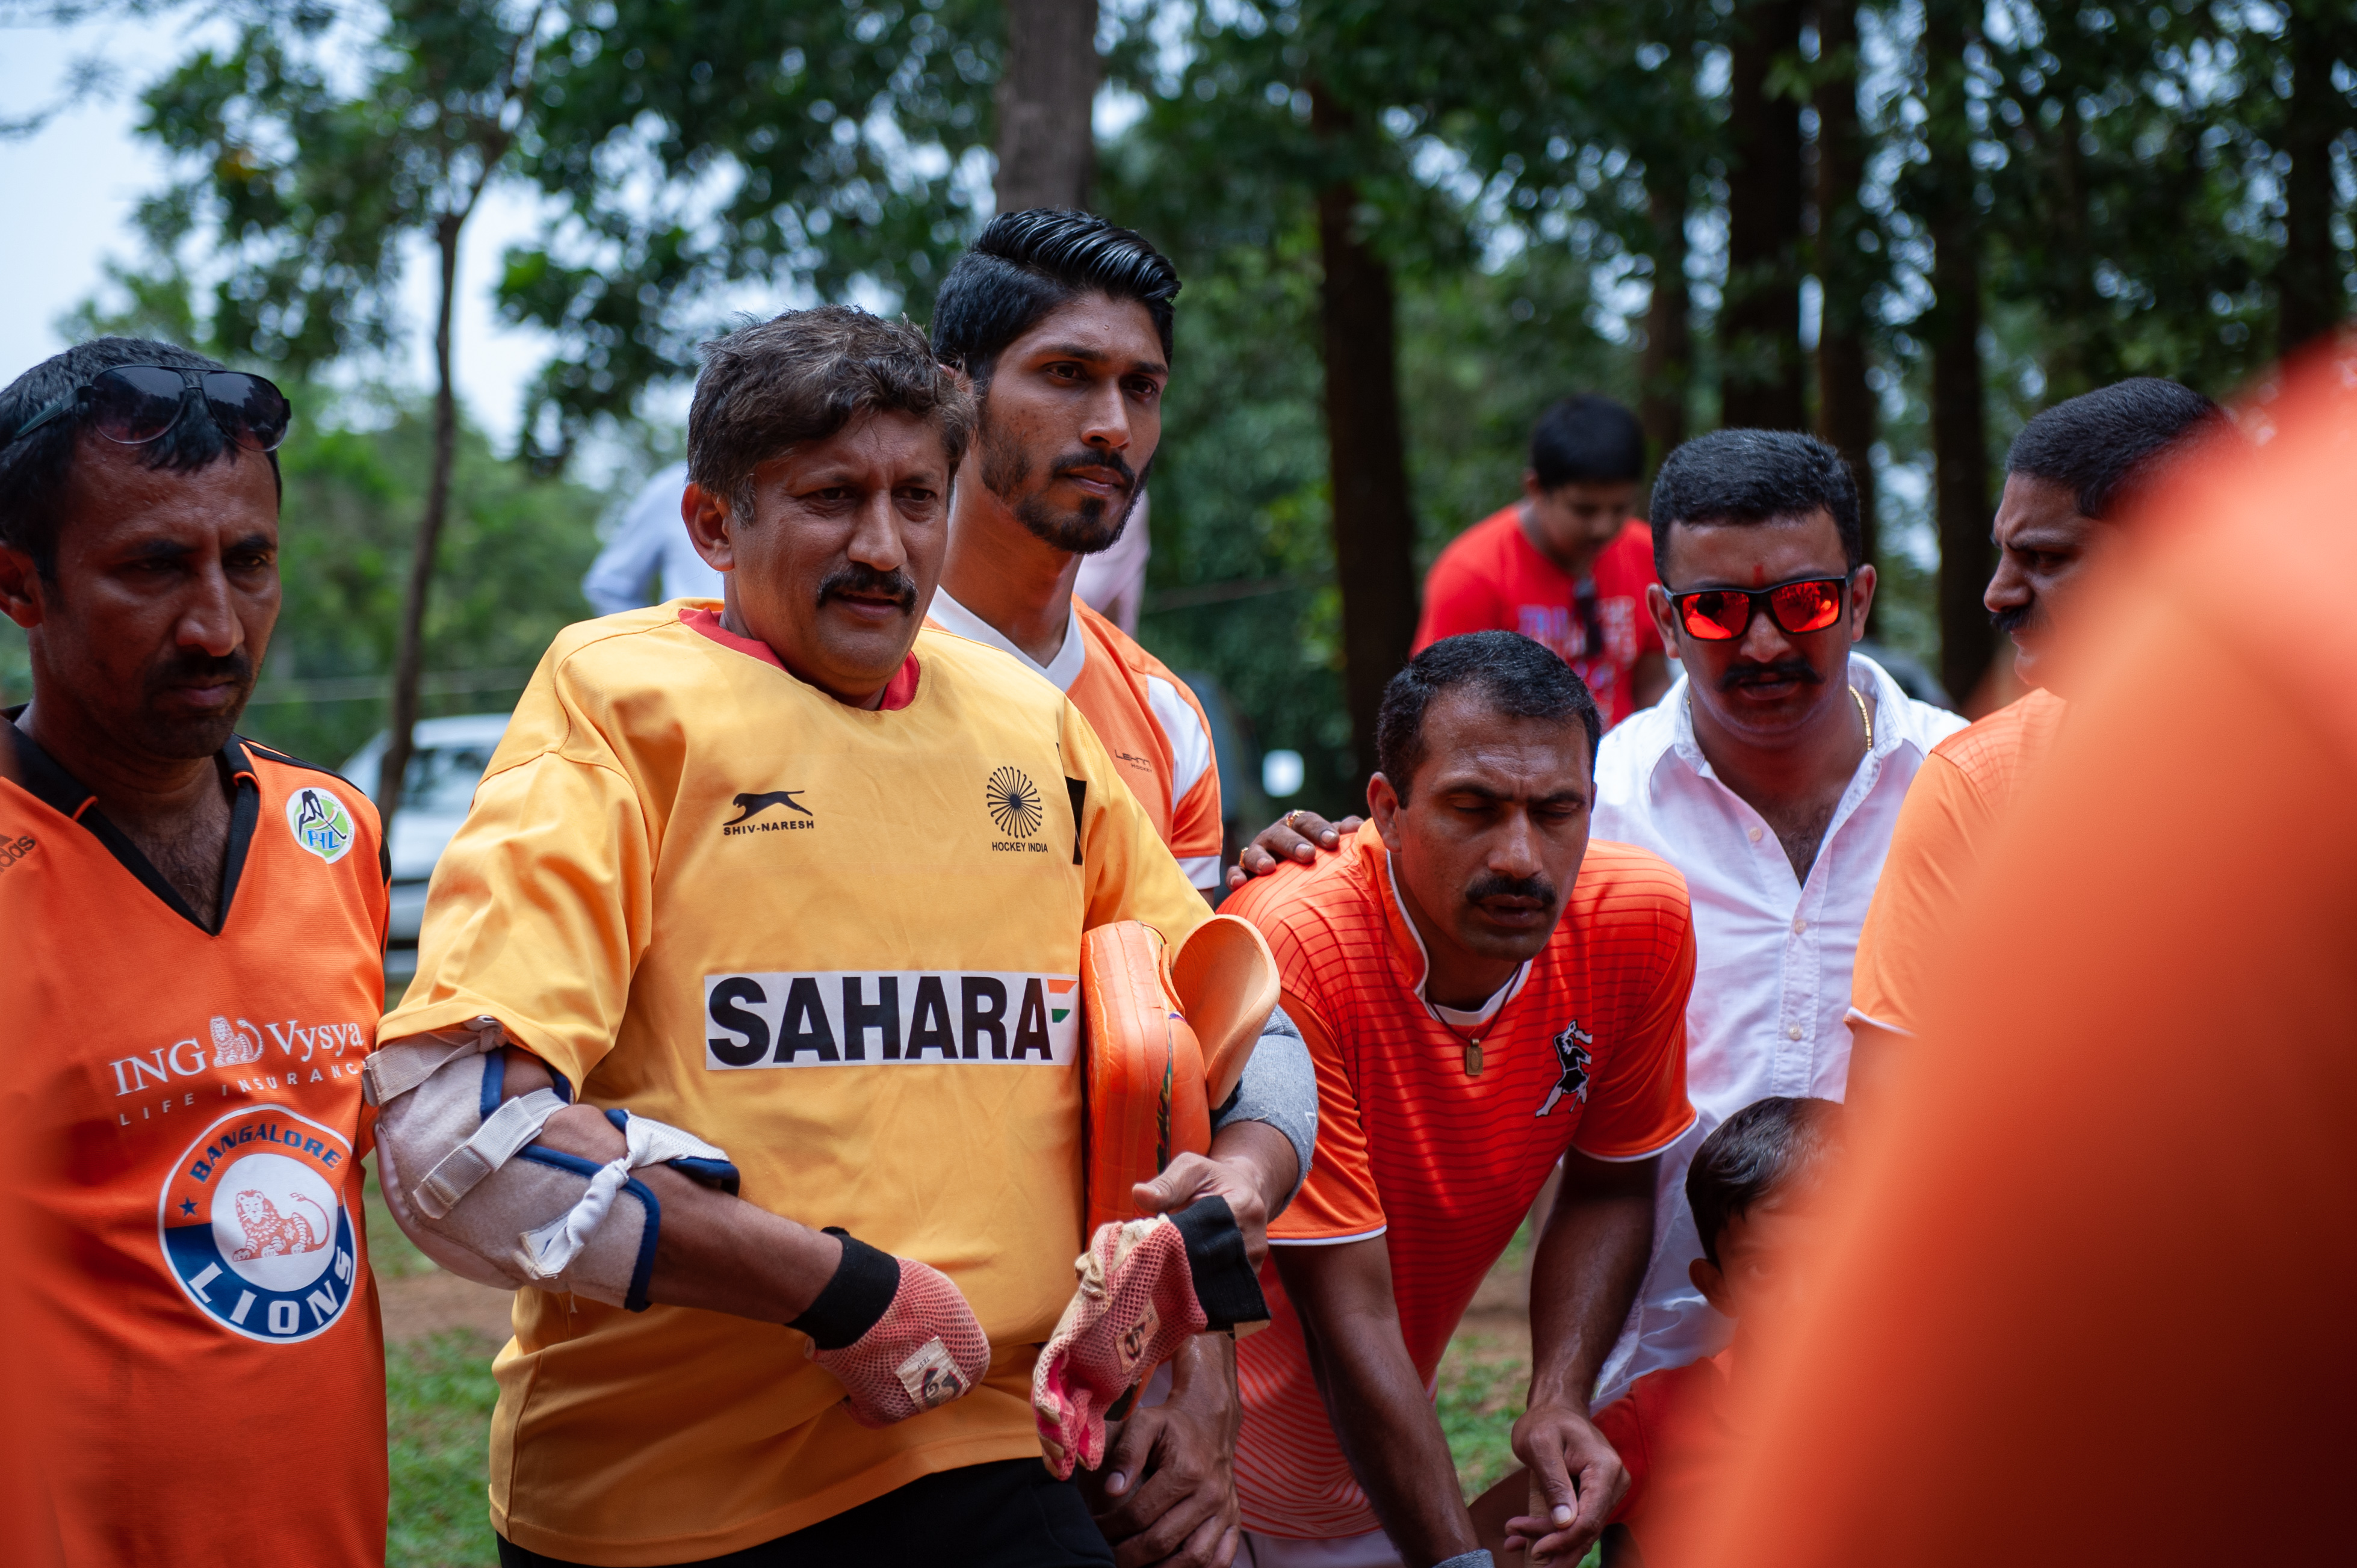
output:
POLYGON ((1084 1483, 1117 1568, 1228 1568, 1242 1542, 1235 1476, 1235 1342, 1197 1335, 1171 1356, 1171 1396, 1131 1410, 1084 1483))

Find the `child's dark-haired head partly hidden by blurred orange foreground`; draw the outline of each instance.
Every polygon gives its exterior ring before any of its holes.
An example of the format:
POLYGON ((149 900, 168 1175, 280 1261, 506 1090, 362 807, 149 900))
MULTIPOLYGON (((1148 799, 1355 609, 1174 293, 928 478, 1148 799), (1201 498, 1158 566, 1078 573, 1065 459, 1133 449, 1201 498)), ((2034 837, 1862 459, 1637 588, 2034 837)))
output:
POLYGON ((1754 1101, 1702 1139, 1685 1170, 1702 1233, 1688 1276, 1711 1306, 1737 1323, 1782 1313, 1841 1139, 1841 1106, 1829 1099, 1754 1101))

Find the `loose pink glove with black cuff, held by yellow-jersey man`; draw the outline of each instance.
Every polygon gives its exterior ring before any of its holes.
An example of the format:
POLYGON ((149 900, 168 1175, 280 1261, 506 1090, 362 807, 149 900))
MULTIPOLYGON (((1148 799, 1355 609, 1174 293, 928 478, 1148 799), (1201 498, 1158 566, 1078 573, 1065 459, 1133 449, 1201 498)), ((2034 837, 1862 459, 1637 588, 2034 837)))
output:
POLYGON ((1080 1290, 1032 1368, 1032 1419, 1056 1478, 1105 1462, 1105 1412, 1190 1335, 1268 1318, 1226 1198, 1110 1221, 1072 1261, 1080 1290))

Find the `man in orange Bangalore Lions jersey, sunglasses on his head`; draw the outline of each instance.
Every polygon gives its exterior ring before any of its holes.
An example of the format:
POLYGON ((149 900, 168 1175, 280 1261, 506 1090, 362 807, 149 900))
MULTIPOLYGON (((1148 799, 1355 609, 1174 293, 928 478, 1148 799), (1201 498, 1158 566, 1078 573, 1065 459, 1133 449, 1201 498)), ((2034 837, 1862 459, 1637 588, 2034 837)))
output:
POLYGON ((285 429, 266 380, 123 337, 0 391, 7 1396, 47 1504, 9 1563, 384 1561, 384 851, 361 790, 233 733, 285 429))

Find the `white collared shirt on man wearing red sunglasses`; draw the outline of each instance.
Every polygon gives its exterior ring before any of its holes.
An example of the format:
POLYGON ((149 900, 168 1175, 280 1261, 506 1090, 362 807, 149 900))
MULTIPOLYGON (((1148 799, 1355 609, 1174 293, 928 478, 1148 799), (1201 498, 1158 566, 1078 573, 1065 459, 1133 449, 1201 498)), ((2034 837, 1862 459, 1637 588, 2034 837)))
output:
POLYGON ((1655 851, 1685 875, 1692 898, 1685 1092, 1697 1113, 1662 1155, 1652 1266, 1605 1361, 1598 1403, 1645 1372, 1711 1356, 1728 1342, 1728 1320, 1685 1276, 1702 1257, 1685 1205, 1685 1167, 1702 1139, 1756 1099, 1841 1099, 1848 1085, 1850 967, 1890 830, 1923 757, 1966 726, 1961 714, 1909 698, 1855 653, 1850 686, 1874 705, 1874 750, 1834 806, 1805 882, 1794 877, 1768 821, 1711 771, 1695 740, 1685 677, 1605 733, 1596 752, 1593 835, 1655 851))

